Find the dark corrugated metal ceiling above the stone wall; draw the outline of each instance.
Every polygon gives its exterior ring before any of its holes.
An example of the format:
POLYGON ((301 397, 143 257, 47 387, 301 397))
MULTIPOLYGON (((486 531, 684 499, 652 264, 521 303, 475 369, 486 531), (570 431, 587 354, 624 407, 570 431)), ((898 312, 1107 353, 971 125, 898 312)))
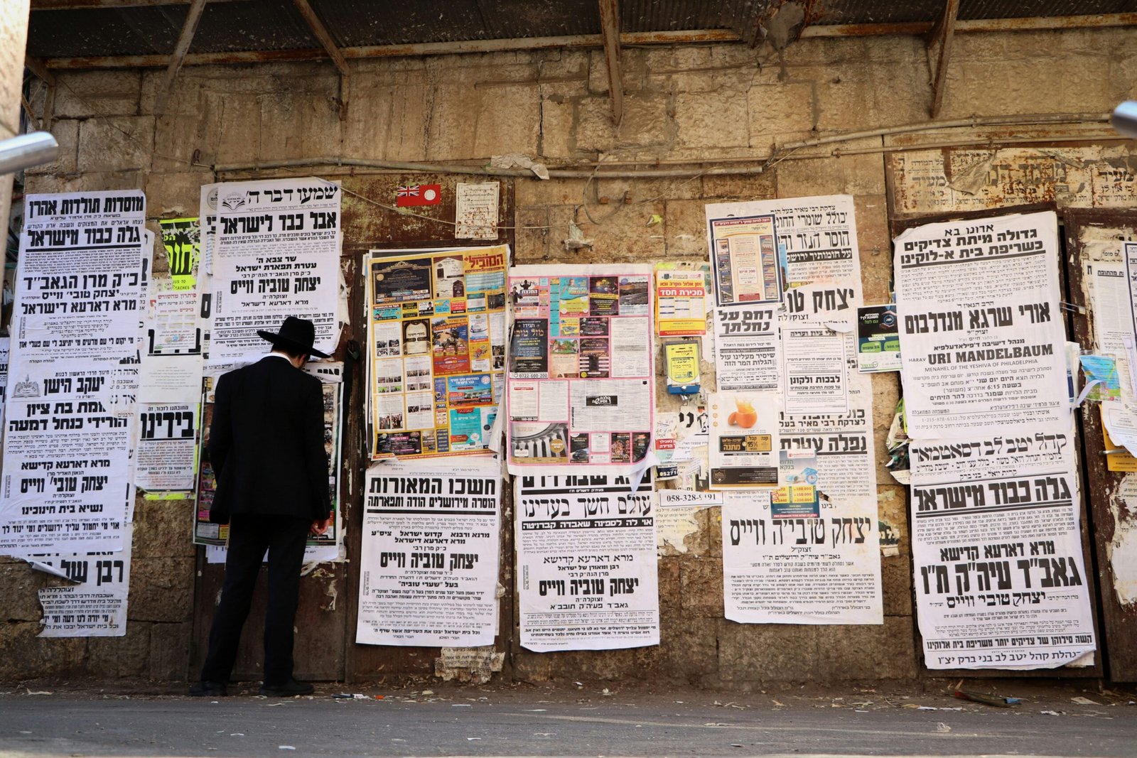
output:
MULTIPOLYGON (((2 0, 0 0, 2 1, 2 0)), ((59 2, 59 0, 55 0, 59 2)), ((783 0, 624 0, 621 31, 730 30, 752 40, 783 0)), ((597 0, 310 0, 342 48, 599 34, 597 0)), ((944 0, 805 0, 813 25, 933 22, 944 0)), ((36 9, 28 53, 36 58, 168 55, 188 5, 36 9)), ((1137 11, 1137 0, 962 0, 960 19, 1137 11)), ((291 0, 208 2, 191 52, 305 50, 319 43, 291 0)))

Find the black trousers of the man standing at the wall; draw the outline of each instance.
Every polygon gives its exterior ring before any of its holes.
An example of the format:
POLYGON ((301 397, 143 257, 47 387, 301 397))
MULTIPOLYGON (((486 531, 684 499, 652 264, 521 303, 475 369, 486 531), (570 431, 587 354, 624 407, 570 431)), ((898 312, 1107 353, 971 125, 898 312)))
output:
POLYGON ((312 522, 291 516, 234 515, 229 527, 229 555, 221 602, 209 630, 209 653, 201 678, 227 682, 236 660, 241 628, 249 616, 252 589, 268 551, 268 603, 265 608, 266 685, 292 678, 293 626, 300 595, 300 567, 312 522))

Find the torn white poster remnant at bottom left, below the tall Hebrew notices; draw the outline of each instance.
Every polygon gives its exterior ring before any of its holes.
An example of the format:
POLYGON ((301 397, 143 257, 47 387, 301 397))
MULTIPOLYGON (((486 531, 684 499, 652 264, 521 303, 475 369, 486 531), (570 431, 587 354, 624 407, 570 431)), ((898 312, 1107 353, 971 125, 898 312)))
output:
POLYGON ((43 618, 38 636, 125 636, 131 584, 131 527, 119 552, 35 556, 67 576, 61 586, 39 591, 43 618))

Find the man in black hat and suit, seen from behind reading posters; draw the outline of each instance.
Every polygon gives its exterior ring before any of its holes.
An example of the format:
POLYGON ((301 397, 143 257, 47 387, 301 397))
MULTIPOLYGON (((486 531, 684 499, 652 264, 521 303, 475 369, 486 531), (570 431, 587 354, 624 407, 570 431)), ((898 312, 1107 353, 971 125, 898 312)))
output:
POLYGON ((209 652, 192 695, 227 694, 241 627, 268 551, 265 609, 265 675, 260 694, 308 694, 313 686, 292 678, 292 642, 300 592, 300 567, 308 534, 331 523, 324 400, 319 380, 300 370, 316 330, 289 316, 280 332, 257 331, 273 343, 258 363, 217 382, 209 460, 217 480, 209 520, 229 524, 229 556, 221 602, 209 632, 209 652))

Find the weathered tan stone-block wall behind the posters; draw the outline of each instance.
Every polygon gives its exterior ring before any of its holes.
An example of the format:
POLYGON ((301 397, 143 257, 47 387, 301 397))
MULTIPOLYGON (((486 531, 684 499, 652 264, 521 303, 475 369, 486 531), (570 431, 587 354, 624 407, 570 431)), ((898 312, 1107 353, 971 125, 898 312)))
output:
MULTIPOLYGON (((944 117, 1105 113, 1134 95, 1131 41, 1129 30, 962 35, 944 117)), ((481 161, 523 152, 549 164, 603 156, 645 165, 732 165, 731 158, 764 158, 774 143, 923 122, 931 99, 927 56, 916 38, 811 40, 780 55, 741 44, 630 49, 623 63, 625 116, 619 128, 611 119, 599 50, 356 61, 343 120, 331 65, 186 68, 167 107, 171 115, 161 118, 151 114, 160 72, 68 74, 61 77, 66 86, 53 128, 63 155, 36 170, 30 191, 141 186, 157 218, 196 215, 204 183, 256 175, 215 175, 211 166, 285 158, 481 161)), ((1060 136, 1062 128, 1052 133, 1060 136)), ((969 134, 956 130, 945 139, 969 134)), ((874 138, 839 148, 881 145, 874 138)), ((831 145, 749 176, 517 180, 516 223, 531 228, 517 230, 516 261, 699 261, 706 257, 704 203, 831 193, 856 199, 865 302, 885 301, 891 255, 883 157, 835 155, 831 145), (597 205, 601 197, 628 202, 597 205), (584 202, 598 224, 588 223, 580 209, 584 202), (649 225, 654 215, 662 223, 649 225), (562 240, 573 219, 594 245, 570 255, 562 240)), ((877 453, 883 460, 895 375, 874 377, 873 390, 877 453)), ((899 555, 882 559, 883 626, 727 622, 719 514, 712 509, 700 515, 687 553, 661 558, 659 647, 556 655, 515 649, 515 675, 731 686, 914 676, 905 495, 883 467, 878 482, 880 518, 902 532, 899 555)), ((125 640, 34 639, 33 590, 44 580, 18 564, 0 566, 0 594, 10 599, 14 619, 0 626, 0 676, 184 675, 193 581, 188 510, 171 502, 139 505, 125 640)))

